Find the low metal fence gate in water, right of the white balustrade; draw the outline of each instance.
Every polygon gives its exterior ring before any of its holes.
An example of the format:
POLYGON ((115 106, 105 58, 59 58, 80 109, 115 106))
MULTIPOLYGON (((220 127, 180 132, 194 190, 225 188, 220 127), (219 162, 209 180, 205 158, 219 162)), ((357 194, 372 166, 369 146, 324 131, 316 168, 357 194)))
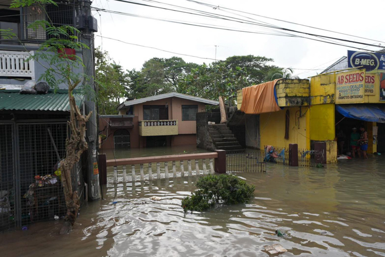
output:
POLYGON ((226 172, 266 172, 266 162, 261 151, 227 151, 226 172))

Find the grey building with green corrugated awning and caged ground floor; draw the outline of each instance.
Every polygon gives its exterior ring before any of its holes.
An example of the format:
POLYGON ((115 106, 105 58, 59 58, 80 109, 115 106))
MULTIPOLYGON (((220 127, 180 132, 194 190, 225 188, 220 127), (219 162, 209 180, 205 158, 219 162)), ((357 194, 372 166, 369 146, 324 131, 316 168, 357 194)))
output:
MULTIPOLYGON (((50 65, 44 60, 28 60, 49 39, 44 29, 28 28, 36 20, 50 20, 54 26, 75 26, 79 6, 70 2, 55 5, 8 8, 2 2, 0 28, 12 29, 13 38, 2 36, 0 42, 0 231, 52 219, 66 213, 63 187, 54 177, 55 164, 65 157, 68 120, 68 90, 65 84, 47 94, 19 94, 29 81, 37 81, 50 65), (39 190, 36 177, 50 177, 39 190), (31 197, 33 196, 33 198, 31 197), (49 200, 51 199, 51 200, 49 200), (54 199, 54 200, 53 200, 54 199), (43 207, 44 205, 44 207, 43 207), (6 208, 4 207, 6 206, 6 208)), ((81 52, 76 55, 82 58, 81 52)), ((83 67, 73 72, 83 73, 83 67)), ((56 80, 60 81, 56 76, 56 80)), ((84 108, 83 96, 74 92, 76 105, 84 108)), ((73 189, 84 198, 82 163, 73 172, 73 189)), ((48 178, 47 178, 48 179, 48 178)))

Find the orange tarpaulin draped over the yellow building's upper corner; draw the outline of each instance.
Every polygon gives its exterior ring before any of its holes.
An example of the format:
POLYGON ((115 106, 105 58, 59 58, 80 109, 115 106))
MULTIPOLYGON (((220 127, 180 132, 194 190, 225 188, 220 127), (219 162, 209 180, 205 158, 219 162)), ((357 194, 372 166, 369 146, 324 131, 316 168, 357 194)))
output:
POLYGON ((245 114, 261 114, 280 111, 274 97, 274 86, 277 80, 242 88, 241 112, 245 114))

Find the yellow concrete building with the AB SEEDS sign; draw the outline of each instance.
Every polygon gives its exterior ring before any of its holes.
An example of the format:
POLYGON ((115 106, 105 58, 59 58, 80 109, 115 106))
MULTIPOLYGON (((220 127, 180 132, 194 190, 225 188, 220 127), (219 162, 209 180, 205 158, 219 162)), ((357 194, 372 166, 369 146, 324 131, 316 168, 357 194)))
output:
MULTIPOLYGON (((337 66, 339 64, 337 62, 337 66)), ((263 149, 265 145, 273 145, 287 149, 288 144, 296 143, 299 149, 314 150, 315 142, 325 142, 328 162, 336 162, 337 128, 346 138, 339 152, 346 154, 351 152, 352 128, 364 126, 369 139, 367 152, 377 152, 377 146, 381 151, 385 149, 382 139, 385 94, 381 95, 385 91, 385 74, 381 63, 376 69, 362 68, 336 70, 329 67, 334 71, 312 77, 310 81, 279 80, 274 87, 279 111, 241 114, 244 115, 246 146, 263 149)), ((245 99, 239 90, 238 109, 242 101, 245 99)))

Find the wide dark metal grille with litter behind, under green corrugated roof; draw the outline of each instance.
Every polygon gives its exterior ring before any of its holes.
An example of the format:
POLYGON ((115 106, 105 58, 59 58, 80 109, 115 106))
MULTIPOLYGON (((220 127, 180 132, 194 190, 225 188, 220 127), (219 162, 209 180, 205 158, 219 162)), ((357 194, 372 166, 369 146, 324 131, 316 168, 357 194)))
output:
POLYGON ((21 196, 19 215, 22 225, 54 219, 66 213, 61 177, 52 176, 58 158, 48 128, 59 156, 63 158, 67 137, 66 123, 17 125, 21 196))

